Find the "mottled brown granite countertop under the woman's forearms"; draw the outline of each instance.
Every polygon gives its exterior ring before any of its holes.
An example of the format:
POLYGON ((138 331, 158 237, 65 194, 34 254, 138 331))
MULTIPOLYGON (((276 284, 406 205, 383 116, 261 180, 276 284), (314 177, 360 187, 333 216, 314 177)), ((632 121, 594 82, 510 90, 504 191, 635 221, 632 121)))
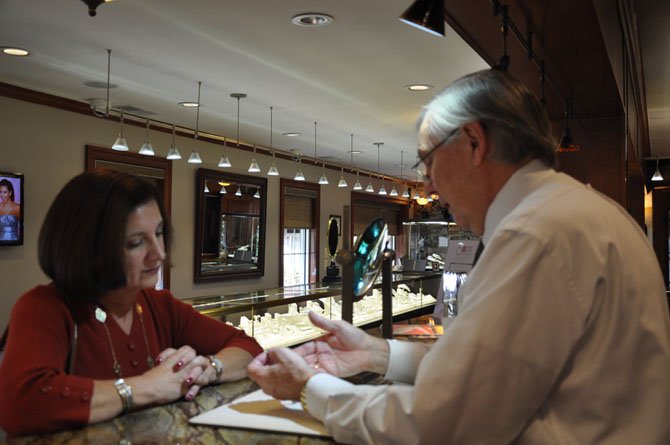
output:
POLYGON ((96 423, 76 430, 54 434, 8 439, 14 445, 28 444, 263 444, 263 445, 323 445, 333 444, 313 436, 265 433, 234 428, 191 425, 188 419, 223 405, 238 396, 250 393, 258 386, 249 379, 203 388, 191 402, 181 400, 168 405, 148 408, 96 423))

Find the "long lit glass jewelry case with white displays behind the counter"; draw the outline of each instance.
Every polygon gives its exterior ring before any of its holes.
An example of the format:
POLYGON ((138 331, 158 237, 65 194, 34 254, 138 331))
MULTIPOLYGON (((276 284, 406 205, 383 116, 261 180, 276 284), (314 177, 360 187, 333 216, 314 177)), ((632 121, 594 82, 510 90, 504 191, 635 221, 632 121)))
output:
MULTIPOLYGON (((393 274, 393 318, 403 320, 431 313, 439 273, 393 274)), ((341 284, 315 283, 233 295, 183 300, 199 312, 244 330, 265 349, 294 346, 321 335, 307 318, 315 311, 330 319, 342 318, 341 284)), ((354 325, 370 328, 381 323, 381 280, 354 303, 354 325)))

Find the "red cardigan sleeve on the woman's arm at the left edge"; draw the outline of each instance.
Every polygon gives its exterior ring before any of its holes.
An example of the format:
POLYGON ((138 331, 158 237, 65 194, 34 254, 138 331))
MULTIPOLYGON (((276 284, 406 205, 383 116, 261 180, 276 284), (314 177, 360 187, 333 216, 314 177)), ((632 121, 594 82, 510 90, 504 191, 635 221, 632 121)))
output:
POLYGON ((72 315, 52 286, 38 286, 14 305, 0 363, 0 427, 10 436, 88 422, 93 379, 65 373, 72 315))

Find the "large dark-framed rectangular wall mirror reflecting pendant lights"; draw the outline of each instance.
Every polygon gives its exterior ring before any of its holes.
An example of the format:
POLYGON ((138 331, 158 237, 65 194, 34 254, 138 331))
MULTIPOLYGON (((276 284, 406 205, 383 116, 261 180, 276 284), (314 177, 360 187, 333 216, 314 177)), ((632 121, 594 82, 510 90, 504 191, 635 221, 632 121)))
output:
POLYGON ((193 281, 263 276, 267 179, 198 169, 193 281))

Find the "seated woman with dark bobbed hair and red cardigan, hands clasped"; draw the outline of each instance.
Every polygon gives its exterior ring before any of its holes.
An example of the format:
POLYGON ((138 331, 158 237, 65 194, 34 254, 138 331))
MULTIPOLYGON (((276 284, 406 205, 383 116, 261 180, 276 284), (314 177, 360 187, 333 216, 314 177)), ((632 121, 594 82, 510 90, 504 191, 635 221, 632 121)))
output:
POLYGON ((253 338, 154 289, 170 241, 149 182, 97 170, 65 185, 39 235, 52 282, 12 310, 0 427, 10 435, 74 428, 246 376, 262 351, 253 338))

